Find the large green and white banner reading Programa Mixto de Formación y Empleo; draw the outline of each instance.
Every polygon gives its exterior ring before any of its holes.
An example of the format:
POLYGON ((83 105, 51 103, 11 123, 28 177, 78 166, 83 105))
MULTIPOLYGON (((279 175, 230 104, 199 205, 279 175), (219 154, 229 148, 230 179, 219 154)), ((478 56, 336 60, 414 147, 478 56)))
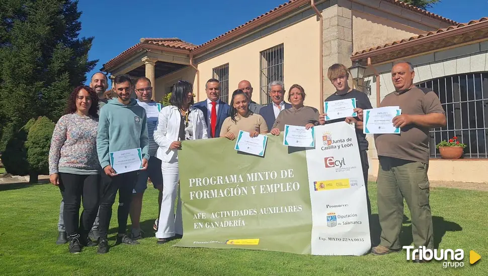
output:
POLYGON ((264 157, 238 152, 225 138, 183 142, 184 236, 176 246, 365 253, 369 227, 355 131, 346 123, 318 126, 315 140, 315 148, 295 148, 269 135, 264 157))

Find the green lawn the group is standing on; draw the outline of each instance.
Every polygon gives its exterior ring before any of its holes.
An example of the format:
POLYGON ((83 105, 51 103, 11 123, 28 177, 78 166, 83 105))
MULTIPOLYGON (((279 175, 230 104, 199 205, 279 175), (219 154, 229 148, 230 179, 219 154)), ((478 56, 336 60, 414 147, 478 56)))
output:
MULTIPOLYGON (((376 185, 370 183, 373 213, 376 185)), ((239 249, 173 247, 177 241, 157 245, 152 223, 157 193, 147 189, 142 219, 147 238, 137 246, 118 245, 104 255, 96 247, 69 254, 56 245, 61 196, 44 185, 0 186, 0 275, 486 275, 488 274, 488 193, 436 188, 431 192, 435 241, 440 248, 462 248, 464 267, 447 268, 432 261, 414 264, 405 251, 385 256, 310 256, 239 249), (469 250, 482 258, 469 264, 469 250)), ((115 207, 116 208, 116 207, 115 207)), ((114 208, 114 209, 115 209, 114 208)), ((406 207, 405 207, 406 208, 406 207)), ((113 244, 117 213, 109 231, 113 244)), ((410 214, 405 212, 402 241, 412 241, 410 214)), ((377 221, 377 216, 375 216, 377 221)))

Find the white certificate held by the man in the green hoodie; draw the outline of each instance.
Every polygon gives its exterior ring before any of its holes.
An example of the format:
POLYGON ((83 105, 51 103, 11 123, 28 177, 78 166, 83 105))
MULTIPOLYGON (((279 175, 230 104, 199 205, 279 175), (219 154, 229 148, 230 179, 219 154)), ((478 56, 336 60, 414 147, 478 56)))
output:
POLYGON ((141 148, 110 153, 110 165, 117 174, 140 170, 142 168, 141 148))

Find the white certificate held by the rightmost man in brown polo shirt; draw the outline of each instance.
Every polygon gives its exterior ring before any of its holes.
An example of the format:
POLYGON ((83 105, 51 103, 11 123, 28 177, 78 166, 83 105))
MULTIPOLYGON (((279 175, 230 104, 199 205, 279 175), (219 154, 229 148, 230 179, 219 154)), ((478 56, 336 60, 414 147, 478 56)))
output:
POLYGON ((393 118, 401 114, 398 106, 385 106, 363 111, 364 127, 363 133, 400 133, 400 128, 393 125, 393 118))

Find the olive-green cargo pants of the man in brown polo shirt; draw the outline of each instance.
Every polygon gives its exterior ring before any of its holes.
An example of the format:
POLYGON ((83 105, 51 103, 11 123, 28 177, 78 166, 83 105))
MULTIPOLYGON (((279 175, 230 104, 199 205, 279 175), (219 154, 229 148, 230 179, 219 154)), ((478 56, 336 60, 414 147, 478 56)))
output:
POLYGON ((380 245, 401 249, 399 234, 403 221, 403 198, 412 216, 416 248, 434 249, 432 214, 429 205, 428 164, 379 156, 377 178, 380 245))

